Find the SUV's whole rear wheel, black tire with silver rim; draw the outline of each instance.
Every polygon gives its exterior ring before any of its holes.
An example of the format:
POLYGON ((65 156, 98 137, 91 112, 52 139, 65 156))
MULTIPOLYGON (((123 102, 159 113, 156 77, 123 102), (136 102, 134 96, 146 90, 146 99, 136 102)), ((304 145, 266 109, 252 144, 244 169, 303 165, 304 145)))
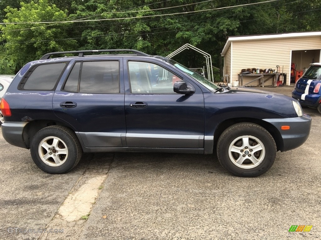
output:
POLYGON ((42 171, 52 174, 69 172, 82 158, 82 148, 75 133, 57 125, 45 127, 34 135, 30 153, 42 171))

